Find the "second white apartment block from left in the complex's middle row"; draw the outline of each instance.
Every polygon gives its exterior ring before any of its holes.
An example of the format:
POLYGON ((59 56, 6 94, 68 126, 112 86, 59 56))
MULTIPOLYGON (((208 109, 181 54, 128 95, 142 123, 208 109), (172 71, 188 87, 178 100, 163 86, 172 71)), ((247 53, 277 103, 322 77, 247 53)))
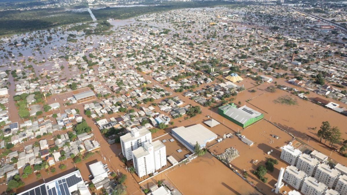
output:
POLYGON ((301 154, 298 158, 298 162, 296 163, 296 167, 304 171, 307 176, 313 176, 315 172, 316 166, 318 166, 319 160, 311 158, 308 154, 301 154))

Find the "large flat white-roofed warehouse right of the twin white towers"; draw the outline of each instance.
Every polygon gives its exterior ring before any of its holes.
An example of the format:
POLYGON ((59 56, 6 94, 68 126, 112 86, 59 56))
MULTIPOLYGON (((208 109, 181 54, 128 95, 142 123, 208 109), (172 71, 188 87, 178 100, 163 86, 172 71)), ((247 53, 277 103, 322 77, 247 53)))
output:
POLYGON ((190 127, 177 127, 171 130, 172 136, 178 139, 188 150, 194 152, 194 146, 197 143, 200 147, 205 147, 206 143, 217 138, 217 135, 201 124, 190 127))

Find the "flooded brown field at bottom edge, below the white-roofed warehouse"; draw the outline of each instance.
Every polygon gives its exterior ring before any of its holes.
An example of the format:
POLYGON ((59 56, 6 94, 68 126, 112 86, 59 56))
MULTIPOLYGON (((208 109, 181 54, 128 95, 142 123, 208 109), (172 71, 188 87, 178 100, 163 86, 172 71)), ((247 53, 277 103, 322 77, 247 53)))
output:
POLYGON ((158 180, 170 181, 182 194, 260 194, 210 153, 155 176, 141 186, 149 187, 158 180))

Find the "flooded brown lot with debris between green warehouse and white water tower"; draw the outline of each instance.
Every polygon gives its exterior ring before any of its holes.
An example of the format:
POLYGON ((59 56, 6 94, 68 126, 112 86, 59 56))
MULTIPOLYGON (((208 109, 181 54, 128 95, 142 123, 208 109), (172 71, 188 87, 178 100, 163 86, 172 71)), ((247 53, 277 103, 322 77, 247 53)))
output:
MULTIPOLYGON (((248 179, 253 181, 254 184, 263 190, 266 194, 270 194, 272 186, 276 184, 280 167, 287 167, 288 165, 280 160, 279 148, 289 141, 292 137, 277 127, 273 126, 270 122, 261 120, 256 124, 242 130, 242 135, 254 142, 252 146, 243 143, 238 137, 224 139, 222 142, 210 147, 209 150, 214 154, 220 154, 229 147, 234 147, 240 153, 240 156, 230 162, 232 167, 238 170, 239 173, 247 171, 248 179), (272 135, 279 136, 279 139, 272 137, 272 135), (268 155, 267 152, 273 150, 268 155), (252 155, 247 155, 252 154, 252 155), (275 166, 273 172, 268 172, 265 177, 268 177, 268 183, 264 184, 256 176, 252 174, 260 164, 265 164, 266 158, 274 158, 279 161, 275 166), (255 163, 255 161, 257 161, 255 163)), ((282 189, 281 189, 282 190, 282 189)), ((286 190, 288 192, 288 190, 286 190)))

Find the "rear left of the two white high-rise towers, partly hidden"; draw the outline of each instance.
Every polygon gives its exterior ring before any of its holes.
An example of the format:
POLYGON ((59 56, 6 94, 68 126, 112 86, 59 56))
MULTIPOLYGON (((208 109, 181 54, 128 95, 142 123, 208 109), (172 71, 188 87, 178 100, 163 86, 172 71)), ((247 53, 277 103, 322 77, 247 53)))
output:
POLYGON ((120 144, 122 146, 122 154, 127 160, 133 158, 132 151, 144 146, 146 142, 152 143, 151 132, 144 128, 132 128, 130 133, 120 136, 120 144))

